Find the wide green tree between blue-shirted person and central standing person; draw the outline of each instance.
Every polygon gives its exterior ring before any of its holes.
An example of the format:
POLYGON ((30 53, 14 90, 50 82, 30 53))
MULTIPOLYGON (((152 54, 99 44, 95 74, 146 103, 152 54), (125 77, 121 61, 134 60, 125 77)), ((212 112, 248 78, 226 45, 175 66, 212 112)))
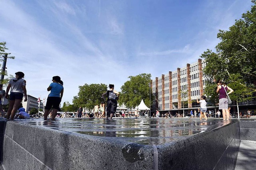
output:
POLYGON ((78 107, 85 107, 91 111, 96 104, 103 101, 102 94, 108 90, 106 84, 84 84, 79 86, 78 96, 74 96, 73 104, 78 107))

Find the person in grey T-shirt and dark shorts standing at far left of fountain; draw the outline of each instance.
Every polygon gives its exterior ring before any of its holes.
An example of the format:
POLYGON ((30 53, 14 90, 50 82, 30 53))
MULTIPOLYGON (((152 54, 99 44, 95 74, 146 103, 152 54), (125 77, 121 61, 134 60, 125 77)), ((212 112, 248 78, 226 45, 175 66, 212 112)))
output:
POLYGON ((15 113, 18 110, 18 107, 20 106, 20 103, 23 99, 24 94, 24 102, 26 102, 27 99, 27 90, 26 90, 26 80, 22 79, 24 77, 23 72, 16 72, 15 78, 11 78, 9 81, 9 84, 6 88, 6 94, 5 97, 8 97, 8 92, 10 91, 10 98, 9 98, 9 108, 7 111, 7 117, 6 119, 14 119, 15 113))

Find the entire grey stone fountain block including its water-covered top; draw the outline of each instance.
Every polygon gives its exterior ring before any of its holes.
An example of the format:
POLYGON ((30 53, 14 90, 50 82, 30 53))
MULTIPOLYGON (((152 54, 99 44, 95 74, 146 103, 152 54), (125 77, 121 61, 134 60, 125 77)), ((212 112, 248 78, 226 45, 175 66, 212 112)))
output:
POLYGON ((23 155, 33 160, 24 167, 49 170, 229 169, 222 162, 235 160, 239 126, 237 119, 6 121, 3 165, 18 170, 20 160, 9 158, 23 155))

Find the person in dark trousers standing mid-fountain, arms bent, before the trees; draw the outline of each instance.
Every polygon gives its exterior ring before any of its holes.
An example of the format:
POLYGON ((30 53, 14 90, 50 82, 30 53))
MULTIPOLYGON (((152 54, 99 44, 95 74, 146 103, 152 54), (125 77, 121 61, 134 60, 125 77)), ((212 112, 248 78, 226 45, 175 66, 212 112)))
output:
POLYGON ((106 101, 105 96, 108 97, 106 119, 108 119, 109 117, 110 117, 110 119, 112 119, 112 117, 116 113, 117 100, 119 97, 119 93, 116 90, 114 90, 114 84, 109 84, 108 87, 110 88, 110 90, 108 90, 107 92, 102 94, 102 98, 106 101))

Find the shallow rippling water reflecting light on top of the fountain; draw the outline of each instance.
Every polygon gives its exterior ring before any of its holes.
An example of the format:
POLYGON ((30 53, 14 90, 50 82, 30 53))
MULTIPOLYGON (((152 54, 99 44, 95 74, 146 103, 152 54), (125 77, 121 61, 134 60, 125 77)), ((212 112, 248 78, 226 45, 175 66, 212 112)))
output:
POLYGON ((44 126, 60 131, 79 133, 98 137, 118 137, 116 140, 126 140, 145 145, 161 145, 184 139, 188 136, 210 131, 228 123, 238 121, 232 119, 132 119, 115 118, 88 119, 88 118, 57 118, 56 121, 44 121, 43 118, 15 120, 27 125, 44 126))

